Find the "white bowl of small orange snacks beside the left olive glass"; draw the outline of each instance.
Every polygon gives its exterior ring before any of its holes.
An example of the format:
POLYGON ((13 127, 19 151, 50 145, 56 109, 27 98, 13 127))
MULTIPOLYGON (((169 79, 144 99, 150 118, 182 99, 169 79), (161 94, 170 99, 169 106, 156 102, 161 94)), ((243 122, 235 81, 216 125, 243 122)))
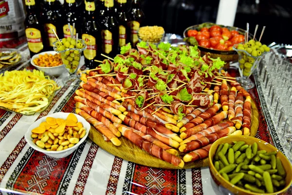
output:
POLYGON ((55 77, 66 73, 61 56, 55 51, 47 51, 34 55, 31 59, 31 64, 38 70, 55 77))

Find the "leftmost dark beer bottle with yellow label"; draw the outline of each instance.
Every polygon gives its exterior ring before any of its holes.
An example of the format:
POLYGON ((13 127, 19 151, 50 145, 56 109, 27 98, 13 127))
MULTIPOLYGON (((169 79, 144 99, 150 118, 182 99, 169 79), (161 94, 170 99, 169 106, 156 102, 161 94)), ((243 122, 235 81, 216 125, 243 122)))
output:
POLYGON ((43 26, 38 20, 35 0, 25 0, 26 18, 24 20, 25 35, 27 39, 30 56, 33 57, 44 50, 43 26))

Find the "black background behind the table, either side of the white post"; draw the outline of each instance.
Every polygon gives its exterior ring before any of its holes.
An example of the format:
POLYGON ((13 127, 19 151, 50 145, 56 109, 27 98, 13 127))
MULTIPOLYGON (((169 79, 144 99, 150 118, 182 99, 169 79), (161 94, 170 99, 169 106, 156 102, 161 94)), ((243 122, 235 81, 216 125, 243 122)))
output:
MULTIPOLYGON (((219 0, 143 0, 146 16, 144 25, 163 26, 166 33, 183 36, 188 26, 203 22, 216 22, 219 0)), ((258 39, 266 26, 262 41, 292 44, 292 1, 291 0, 238 0, 234 26, 246 28, 254 34, 259 25, 258 39)))

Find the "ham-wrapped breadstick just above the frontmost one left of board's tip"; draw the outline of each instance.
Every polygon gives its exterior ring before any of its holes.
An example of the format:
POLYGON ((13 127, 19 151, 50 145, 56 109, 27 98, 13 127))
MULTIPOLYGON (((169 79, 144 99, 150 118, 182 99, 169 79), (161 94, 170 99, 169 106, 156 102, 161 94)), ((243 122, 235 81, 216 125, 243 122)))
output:
POLYGON ((175 156, 178 155, 178 151, 176 149, 173 149, 172 147, 162 143, 161 141, 159 141, 158 139, 150 136, 150 135, 146 135, 144 134, 143 132, 141 131, 138 131, 134 128, 131 128, 131 127, 128 127, 126 125, 123 125, 123 124, 119 124, 119 123, 113 123, 113 125, 116 127, 116 128, 121 128, 121 127, 126 127, 126 128, 129 128, 131 129, 135 134, 143 137, 144 139, 146 139, 147 141, 150 141, 151 143, 154 143, 155 145, 161 147, 162 149, 164 149, 166 152, 170 153, 170 154, 173 154, 175 156))

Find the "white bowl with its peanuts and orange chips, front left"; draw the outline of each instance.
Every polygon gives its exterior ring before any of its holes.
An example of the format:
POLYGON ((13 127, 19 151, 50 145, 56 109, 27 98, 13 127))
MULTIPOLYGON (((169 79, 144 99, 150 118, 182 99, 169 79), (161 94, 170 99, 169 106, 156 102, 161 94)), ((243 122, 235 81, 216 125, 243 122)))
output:
POLYGON ((54 113, 34 122, 24 137, 30 147, 45 155, 63 158, 85 141, 90 124, 73 113, 54 113))

